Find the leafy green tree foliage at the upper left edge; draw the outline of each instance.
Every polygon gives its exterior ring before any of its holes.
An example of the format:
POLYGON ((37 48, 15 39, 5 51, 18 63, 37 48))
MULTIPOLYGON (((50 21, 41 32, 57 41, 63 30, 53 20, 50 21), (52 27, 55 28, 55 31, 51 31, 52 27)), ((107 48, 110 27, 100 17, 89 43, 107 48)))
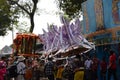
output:
POLYGON ((6 0, 0 1, 0 36, 6 35, 8 30, 12 30, 11 24, 17 22, 16 12, 10 9, 11 6, 6 0))

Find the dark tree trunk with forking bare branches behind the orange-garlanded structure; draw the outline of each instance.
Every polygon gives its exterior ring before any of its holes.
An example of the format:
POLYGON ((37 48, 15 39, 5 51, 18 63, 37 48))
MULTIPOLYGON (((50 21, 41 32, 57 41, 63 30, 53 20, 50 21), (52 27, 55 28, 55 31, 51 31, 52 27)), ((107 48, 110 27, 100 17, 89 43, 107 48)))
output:
POLYGON ((13 8, 19 8, 19 12, 22 12, 24 16, 30 18, 30 29, 29 32, 32 33, 34 30, 34 15, 37 10, 38 0, 8 0, 13 8))

